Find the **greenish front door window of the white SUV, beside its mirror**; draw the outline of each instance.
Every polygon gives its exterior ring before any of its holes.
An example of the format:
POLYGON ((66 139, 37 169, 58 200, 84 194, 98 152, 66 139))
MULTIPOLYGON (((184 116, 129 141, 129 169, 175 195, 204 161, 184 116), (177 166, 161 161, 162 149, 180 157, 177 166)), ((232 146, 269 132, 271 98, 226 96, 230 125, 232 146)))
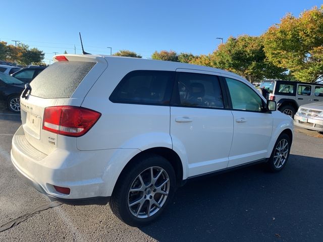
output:
POLYGON ((227 78, 233 109, 247 111, 261 111, 262 99, 243 82, 227 78))

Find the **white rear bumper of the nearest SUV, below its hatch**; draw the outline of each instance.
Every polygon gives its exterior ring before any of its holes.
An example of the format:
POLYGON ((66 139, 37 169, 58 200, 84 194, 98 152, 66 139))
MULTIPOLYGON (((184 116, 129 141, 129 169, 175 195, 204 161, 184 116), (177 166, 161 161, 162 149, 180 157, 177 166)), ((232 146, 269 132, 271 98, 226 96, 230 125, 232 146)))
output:
POLYGON ((11 160, 18 174, 48 197, 68 204, 106 204, 115 184, 109 163, 115 152, 56 149, 46 155, 28 143, 21 127, 13 137, 11 160), (71 192, 62 194, 53 186, 71 192))

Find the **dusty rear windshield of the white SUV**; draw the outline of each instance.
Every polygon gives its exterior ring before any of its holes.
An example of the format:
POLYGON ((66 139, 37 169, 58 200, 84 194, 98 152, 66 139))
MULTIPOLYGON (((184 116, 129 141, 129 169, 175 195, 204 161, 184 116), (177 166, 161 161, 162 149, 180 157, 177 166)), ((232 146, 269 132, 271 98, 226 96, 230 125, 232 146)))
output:
POLYGON ((70 98, 96 63, 55 62, 31 83, 31 95, 42 98, 70 98))

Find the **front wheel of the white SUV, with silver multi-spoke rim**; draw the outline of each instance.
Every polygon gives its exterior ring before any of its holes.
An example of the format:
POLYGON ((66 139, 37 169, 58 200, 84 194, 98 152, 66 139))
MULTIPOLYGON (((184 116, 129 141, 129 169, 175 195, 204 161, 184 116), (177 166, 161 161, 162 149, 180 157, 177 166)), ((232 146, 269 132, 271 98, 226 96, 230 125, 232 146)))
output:
POLYGON ((288 161, 290 150, 291 140, 289 136, 281 134, 275 143, 271 157, 266 163, 268 170, 272 172, 281 171, 288 161))

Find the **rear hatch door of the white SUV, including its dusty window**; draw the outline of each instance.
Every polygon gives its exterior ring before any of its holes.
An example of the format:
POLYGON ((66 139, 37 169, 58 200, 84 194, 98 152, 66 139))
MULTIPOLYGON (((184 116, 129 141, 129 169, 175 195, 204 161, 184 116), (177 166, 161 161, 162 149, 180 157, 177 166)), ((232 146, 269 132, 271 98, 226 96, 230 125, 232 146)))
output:
POLYGON ((61 61, 56 61, 42 71, 30 83, 29 95, 20 99, 25 138, 34 148, 45 154, 55 150, 59 143, 57 134, 42 129, 45 108, 81 106, 87 92, 107 67, 101 56, 62 56, 54 57, 55 61, 56 58, 61 61))

